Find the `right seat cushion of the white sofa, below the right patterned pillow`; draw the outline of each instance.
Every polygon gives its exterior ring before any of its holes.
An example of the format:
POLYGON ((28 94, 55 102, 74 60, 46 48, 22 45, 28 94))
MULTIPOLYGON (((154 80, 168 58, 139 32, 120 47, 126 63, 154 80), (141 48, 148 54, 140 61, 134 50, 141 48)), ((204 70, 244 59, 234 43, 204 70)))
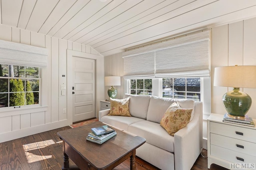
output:
POLYGON ((174 152, 174 137, 169 135, 159 123, 146 120, 132 123, 128 127, 128 132, 144 137, 146 143, 174 152))

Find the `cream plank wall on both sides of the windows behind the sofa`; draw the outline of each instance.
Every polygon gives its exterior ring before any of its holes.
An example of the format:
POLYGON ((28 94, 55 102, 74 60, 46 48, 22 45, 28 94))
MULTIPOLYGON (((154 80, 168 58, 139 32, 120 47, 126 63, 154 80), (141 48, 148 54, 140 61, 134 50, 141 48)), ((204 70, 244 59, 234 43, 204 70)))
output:
MULTIPOLYGON (((215 87, 213 86, 214 68, 218 66, 233 66, 237 65, 256 65, 256 18, 238 21, 212 27, 212 53, 211 53, 211 81, 212 86, 212 111, 211 113, 223 114, 226 110, 222 104, 222 96, 232 88, 215 87)), ((105 57, 105 76, 123 75, 123 59, 122 53, 105 57), (118 65, 118 66, 116 66, 118 65)), ((121 78, 122 79, 122 78, 121 78)), ((119 95, 122 98, 123 85, 118 89, 119 95), (122 87, 122 88, 121 88, 122 87)), ((105 98, 107 98, 105 87, 105 98)), ((256 89, 241 88, 248 93, 252 98, 252 106, 247 115, 256 119, 256 89)), ((207 146, 207 123, 206 119, 210 113, 204 115, 203 121, 203 138, 204 149, 207 146)))

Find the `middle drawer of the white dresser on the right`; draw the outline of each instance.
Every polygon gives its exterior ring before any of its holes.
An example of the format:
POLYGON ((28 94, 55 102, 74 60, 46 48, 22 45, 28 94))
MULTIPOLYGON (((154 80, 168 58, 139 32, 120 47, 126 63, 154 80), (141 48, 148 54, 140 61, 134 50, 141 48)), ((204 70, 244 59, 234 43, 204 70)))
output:
POLYGON ((222 135, 210 133, 210 143, 236 152, 242 152, 252 156, 256 156, 256 143, 242 141, 222 135))

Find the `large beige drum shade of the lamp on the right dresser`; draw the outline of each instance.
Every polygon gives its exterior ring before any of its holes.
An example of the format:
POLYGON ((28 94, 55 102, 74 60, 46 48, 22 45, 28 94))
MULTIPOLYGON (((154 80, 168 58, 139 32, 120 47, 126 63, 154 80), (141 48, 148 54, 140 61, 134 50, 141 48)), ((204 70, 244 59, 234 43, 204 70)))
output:
POLYGON ((216 67, 214 86, 256 88, 256 66, 216 67))

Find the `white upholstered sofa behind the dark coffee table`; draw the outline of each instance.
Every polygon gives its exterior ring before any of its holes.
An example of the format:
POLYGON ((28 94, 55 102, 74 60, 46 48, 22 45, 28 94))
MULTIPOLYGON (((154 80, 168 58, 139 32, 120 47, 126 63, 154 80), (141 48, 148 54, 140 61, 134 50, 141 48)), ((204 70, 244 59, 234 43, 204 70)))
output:
POLYGON ((109 116, 106 109, 99 112, 99 121, 144 137, 146 143, 136 155, 150 164, 162 170, 190 170, 202 150, 202 102, 128 94, 124 98, 128 96, 132 117, 109 116), (160 121, 174 101, 193 111, 188 125, 171 136, 160 121))

